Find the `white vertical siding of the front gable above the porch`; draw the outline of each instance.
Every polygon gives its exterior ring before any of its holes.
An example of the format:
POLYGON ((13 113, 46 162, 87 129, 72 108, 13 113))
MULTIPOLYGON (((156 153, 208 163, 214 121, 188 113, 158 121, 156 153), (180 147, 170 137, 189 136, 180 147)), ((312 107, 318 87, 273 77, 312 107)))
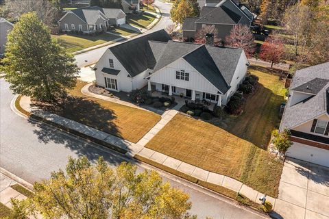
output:
POLYGON ((158 70, 154 75, 151 75, 151 82, 163 83, 176 88, 184 88, 189 90, 197 90, 217 94, 217 88, 213 86, 203 75, 201 75, 193 66, 188 64, 183 58, 175 60, 171 64, 158 70), (176 79, 176 71, 185 70, 190 74, 189 81, 176 79))

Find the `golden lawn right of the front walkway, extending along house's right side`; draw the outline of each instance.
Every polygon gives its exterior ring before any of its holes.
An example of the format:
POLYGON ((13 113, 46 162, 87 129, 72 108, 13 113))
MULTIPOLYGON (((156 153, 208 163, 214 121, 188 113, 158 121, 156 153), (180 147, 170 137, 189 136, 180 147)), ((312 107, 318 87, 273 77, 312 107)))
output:
POLYGON ((260 88, 249 96, 241 116, 212 125, 178 114, 146 147, 277 197, 282 164, 265 149, 271 130, 280 123, 284 85, 266 68, 250 70, 260 78, 260 88))

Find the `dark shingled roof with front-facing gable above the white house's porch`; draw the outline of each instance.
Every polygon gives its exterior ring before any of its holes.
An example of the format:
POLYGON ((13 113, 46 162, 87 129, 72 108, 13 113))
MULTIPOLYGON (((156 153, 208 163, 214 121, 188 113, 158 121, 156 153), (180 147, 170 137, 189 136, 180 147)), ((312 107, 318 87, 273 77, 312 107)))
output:
POLYGON ((242 49, 169 41, 154 67, 154 74, 164 66, 183 58, 225 94, 230 88, 242 52, 242 49))

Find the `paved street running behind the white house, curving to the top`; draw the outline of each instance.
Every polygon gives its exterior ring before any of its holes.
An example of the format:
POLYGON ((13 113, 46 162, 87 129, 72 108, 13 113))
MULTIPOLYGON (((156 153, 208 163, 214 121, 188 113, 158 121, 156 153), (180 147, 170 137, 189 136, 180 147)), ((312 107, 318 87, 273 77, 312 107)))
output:
MULTIPOLYGON (((169 3, 164 3, 162 1, 155 1, 155 5, 158 6, 158 8, 161 10, 162 18, 155 27, 153 27, 149 31, 145 31, 144 34, 149 34, 153 31, 157 31, 159 29, 164 29, 172 23, 172 21, 170 19, 170 14, 169 14, 171 5, 169 3)), ((114 45, 117 45, 120 43, 122 43, 122 42, 116 42, 114 44, 111 44, 108 47, 113 47, 114 45)), ((99 60, 99 58, 101 57, 101 55, 103 55, 103 53, 106 51, 106 49, 108 49, 108 47, 101 47, 99 49, 94 49, 94 50, 88 51, 86 53, 75 55, 75 60, 77 60, 77 66, 82 67, 82 66, 86 66, 87 64, 97 62, 99 60)))

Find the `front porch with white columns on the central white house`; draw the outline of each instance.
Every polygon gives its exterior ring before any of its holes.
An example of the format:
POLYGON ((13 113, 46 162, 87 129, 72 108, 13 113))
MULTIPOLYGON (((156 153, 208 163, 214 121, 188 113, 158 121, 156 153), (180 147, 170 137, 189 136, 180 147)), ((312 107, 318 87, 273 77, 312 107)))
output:
POLYGON ((221 106, 221 94, 210 94, 161 83, 151 83, 150 81, 148 81, 147 90, 151 92, 151 96, 174 96, 175 102, 180 106, 184 105, 186 100, 194 103, 202 103, 210 110, 213 110, 215 105, 221 106))

